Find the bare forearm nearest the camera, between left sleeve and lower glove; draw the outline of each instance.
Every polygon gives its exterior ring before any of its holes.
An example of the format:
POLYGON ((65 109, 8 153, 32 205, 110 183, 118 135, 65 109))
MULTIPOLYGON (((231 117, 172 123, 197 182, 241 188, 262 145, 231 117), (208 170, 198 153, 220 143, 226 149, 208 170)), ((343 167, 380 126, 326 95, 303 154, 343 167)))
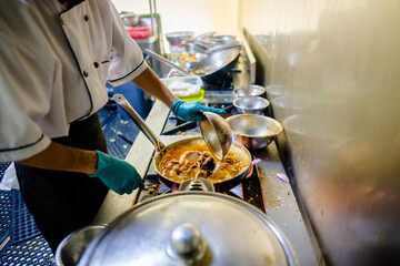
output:
POLYGON ((94 151, 80 150, 51 142, 44 151, 18 163, 37 168, 94 174, 98 155, 94 151))

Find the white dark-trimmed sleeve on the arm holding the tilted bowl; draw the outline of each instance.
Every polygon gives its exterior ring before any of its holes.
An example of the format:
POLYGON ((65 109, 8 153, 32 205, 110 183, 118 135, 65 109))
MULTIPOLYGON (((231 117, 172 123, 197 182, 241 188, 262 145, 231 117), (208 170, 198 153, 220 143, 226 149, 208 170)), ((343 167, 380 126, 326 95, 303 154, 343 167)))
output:
POLYGON ((133 80, 147 68, 139 45, 128 34, 118 11, 110 2, 112 12, 112 61, 108 72, 108 80, 118 86, 133 80))

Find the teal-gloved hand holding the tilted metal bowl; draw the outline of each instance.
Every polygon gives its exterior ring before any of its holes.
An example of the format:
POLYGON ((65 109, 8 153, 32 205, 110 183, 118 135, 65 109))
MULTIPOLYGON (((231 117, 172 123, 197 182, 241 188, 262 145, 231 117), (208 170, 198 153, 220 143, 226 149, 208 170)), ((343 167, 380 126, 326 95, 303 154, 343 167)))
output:
POLYGON ((206 108, 200 102, 183 102, 181 100, 174 101, 171 105, 172 113, 184 121, 203 121, 207 117, 199 111, 212 112, 219 115, 224 115, 227 112, 222 109, 206 108))

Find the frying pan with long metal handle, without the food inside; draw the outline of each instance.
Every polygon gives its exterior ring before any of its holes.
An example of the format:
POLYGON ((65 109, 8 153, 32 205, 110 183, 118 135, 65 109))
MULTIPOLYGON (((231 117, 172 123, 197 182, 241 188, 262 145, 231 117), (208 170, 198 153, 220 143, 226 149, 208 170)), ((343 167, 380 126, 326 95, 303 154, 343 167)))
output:
MULTIPOLYGON (((168 187, 179 187, 180 182, 172 181, 172 180, 168 178, 167 176, 162 175, 160 162, 162 162, 163 156, 171 149, 174 149, 174 147, 181 146, 181 145, 190 145, 190 144, 203 142, 202 137, 201 136, 188 137, 186 140, 178 141, 172 144, 169 144, 169 145, 164 145, 161 142, 161 140, 154 134, 154 132, 152 132, 152 130, 140 117, 140 115, 133 110, 133 108, 129 104, 129 102, 122 94, 116 94, 114 100, 116 100, 116 103, 118 105, 120 105, 123 109, 123 111, 127 112, 127 114, 132 119, 132 121, 137 124, 137 126, 143 132, 143 134, 149 139, 149 141, 156 146, 158 153, 154 158, 154 164, 156 164, 157 174, 159 176, 159 181, 161 183, 163 183, 164 185, 167 185, 168 187)), ((238 175, 236 175, 229 180, 219 182, 219 183, 213 183, 216 191, 219 191, 219 192, 229 191, 229 190, 233 188, 234 186, 237 186, 247 176, 247 174, 250 171, 250 166, 251 166, 250 152, 242 144, 233 143, 232 145, 236 145, 239 149, 240 153, 246 157, 247 162, 238 175)))

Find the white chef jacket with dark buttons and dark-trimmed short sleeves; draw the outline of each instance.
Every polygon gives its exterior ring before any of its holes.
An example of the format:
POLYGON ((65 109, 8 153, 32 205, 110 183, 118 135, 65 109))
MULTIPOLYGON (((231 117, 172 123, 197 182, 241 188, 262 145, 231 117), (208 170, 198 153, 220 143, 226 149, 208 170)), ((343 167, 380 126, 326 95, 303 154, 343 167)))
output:
POLYGON ((0 0, 0 162, 28 158, 146 70, 110 0, 0 0))

